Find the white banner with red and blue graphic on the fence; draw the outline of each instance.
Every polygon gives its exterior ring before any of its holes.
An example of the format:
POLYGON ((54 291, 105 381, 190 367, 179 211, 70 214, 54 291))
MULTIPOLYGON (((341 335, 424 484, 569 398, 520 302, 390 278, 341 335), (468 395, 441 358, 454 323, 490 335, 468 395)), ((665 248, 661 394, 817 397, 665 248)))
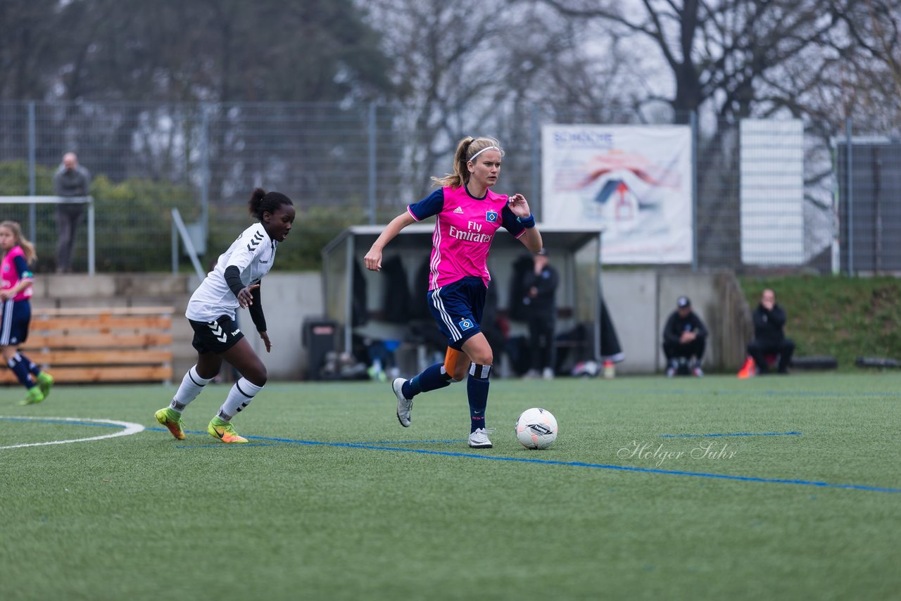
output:
POLYGON ((692 262, 687 125, 544 125, 542 180, 542 223, 603 225, 605 263, 692 262))

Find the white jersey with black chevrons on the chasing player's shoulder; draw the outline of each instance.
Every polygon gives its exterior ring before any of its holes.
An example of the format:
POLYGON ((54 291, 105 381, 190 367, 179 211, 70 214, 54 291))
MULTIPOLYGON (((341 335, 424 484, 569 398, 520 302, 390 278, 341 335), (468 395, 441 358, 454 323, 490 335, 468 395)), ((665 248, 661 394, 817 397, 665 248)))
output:
POLYGON ((213 271, 191 295, 185 315, 196 322, 212 322, 223 315, 234 319, 238 299, 225 283, 225 269, 232 265, 241 271, 241 284, 259 284, 259 280, 272 269, 278 242, 269 238, 262 223, 254 223, 241 232, 232 246, 219 255, 213 271))

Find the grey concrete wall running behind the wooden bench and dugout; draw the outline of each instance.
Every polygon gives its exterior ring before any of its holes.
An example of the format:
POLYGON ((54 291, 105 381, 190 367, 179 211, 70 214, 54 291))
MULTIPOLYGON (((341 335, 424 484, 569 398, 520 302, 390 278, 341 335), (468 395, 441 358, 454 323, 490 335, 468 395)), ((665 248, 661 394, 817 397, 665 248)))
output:
MULTIPOLYGON (((168 275, 39 275, 33 305, 139 306, 173 305, 173 368, 176 379, 196 360, 193 331, 184 317, 196 277, 168 275)), ((603 294, 614 321, 625 360, 620 373, 652 373, 664 369, 660 349, 663 324, 680 295, 690 296, 696 313, 711 331, 705 369, 738 370, 750 337, 750 312, 729 271, 673 269, 605 270, 603 294)), ((503 292, 503 291, 501 291, 503 292)), ((324 314, 322 277, 318 272, 271 273, 262 287, 271 353, 263 349, 250 314, 239 312, 241 329, 259 353, 273 380, 295 380, 306 366, 303 323, 324 314)))

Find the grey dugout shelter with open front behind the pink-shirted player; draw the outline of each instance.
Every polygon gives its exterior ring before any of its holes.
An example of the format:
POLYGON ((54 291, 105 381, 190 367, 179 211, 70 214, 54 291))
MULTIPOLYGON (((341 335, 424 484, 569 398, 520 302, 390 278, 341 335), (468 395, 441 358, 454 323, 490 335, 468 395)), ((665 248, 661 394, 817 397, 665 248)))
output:
MULTIPOLYGON (((603 227, 560 227, 542 225, 544 247, 549 250, 551 265, 560 273, 557 290, 556 331, 567 332, 574 327, 584 328, 587 348, 578 348, 578 360, 599 360, 600 358, 600 302, 601 302, 601 234, 603 227)), ((395 341, 402 351, 417 351, 415 364, 407 361, 407 371, 423 369, 428 364, 422 345, 414 340, 411 331, 425 323, 438 331, 432 318, 427 314, 426 299, 421 290, 427 289, 427 282, 417 282, 427 264, 432 251, 434 223, 413 223, 402 230, 388 243, 382 257, 383 270, 369 271, 363 265, 363 257, 384 225, 355 225, 341 232, 323 248, 323 306, 325 318, 337 327, 337 351, 350 351, 354 334, 371 339, 395 341), (398 307, 391 305, 387 296, 388 278, 385 266, 393 261, 403 266, 407 287, 411 292, 410 307, 401 308, 409 312, 409 319, 398 319, 398 307), (424 263, 424 265, 423 265, 424 263), (395 313, 387 319, 388 313, 395 313)), ((490 287, 494 288, 497 309, 502 315, 509 314, 511 307, 511 280, 514 262, 531 258, 531 253, 521 241, 505 230, 498 230, 488 256, 488 270, 491 273, 490 287)), ((508 320, 510 336, 527 334, 525 323, 508 320)), ((409 353, 403 353, 409 356, 409 353)))

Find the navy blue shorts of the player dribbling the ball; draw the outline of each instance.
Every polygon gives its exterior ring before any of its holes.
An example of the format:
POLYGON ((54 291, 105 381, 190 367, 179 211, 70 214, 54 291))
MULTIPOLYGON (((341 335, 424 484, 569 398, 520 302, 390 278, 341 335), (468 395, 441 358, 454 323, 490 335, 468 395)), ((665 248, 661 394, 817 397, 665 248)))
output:
POLYGON ((462 350, 463 342, 482 331, 487 290, 482 278, 472 277, 429 290, 429 310, 452 349, 462 350))

